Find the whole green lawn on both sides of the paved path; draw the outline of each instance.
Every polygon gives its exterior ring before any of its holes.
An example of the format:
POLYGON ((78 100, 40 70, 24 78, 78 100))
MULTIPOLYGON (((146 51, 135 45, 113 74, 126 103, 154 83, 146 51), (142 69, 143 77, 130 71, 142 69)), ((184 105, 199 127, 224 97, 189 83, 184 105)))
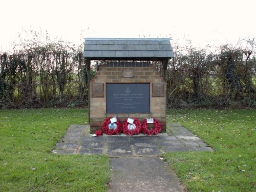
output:
MULTIPOLYGON (((189 191, 256 191, 256 110, 168 110, 215 152, 164 154, 189 191)), ((108 156, 55 155, 87 109, 0 110, 0 191, 106 191, 108 156)))

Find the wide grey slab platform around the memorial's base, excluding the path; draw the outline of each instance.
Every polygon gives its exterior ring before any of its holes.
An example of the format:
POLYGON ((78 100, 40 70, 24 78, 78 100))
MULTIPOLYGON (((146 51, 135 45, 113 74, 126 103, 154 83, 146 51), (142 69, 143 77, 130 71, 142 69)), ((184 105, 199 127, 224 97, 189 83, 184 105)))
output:
POLYGON ((71 125, 56 144, 56 154, 105 154, 110 157, 158 156, 165 152, 212 151, 180 124, 167 124, 167 133, 156 136, 118 135, 93 137, 90 125, 71 125))

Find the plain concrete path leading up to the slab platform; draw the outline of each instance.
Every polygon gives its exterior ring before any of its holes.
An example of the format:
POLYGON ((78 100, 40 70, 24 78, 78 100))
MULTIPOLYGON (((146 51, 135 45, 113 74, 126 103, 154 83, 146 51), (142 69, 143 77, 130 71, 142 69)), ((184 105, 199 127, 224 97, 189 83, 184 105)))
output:
POLYGON ((182 192, 174 172, 159 157, 111 158, 112 180, 109 192, 182 192))

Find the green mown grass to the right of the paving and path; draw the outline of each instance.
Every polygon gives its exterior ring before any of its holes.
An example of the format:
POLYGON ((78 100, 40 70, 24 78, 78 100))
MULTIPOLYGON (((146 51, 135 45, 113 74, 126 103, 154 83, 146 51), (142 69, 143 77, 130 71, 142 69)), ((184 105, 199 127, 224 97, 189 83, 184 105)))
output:
POLYGON ((215 152, 166 153, 188 191, 256 191, 256 110, 168 110, 215 152))

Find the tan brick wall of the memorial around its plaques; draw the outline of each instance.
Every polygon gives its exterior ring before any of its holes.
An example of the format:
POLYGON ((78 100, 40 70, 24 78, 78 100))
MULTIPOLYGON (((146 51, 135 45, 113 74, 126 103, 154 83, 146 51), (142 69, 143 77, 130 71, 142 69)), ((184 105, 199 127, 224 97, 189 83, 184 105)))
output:
MULTIPOLYGON (((132 63, 132 62, 131 62, 132 63)), ((90 127, 91 133, 101 130, 102 122, 105 118, 116 116, 121 121, 128 117, 136 117, 139 120, 144 118, 154 117, 162 125, 162 131, 166 132, 166 82, 158 73, 153 65, 135 63, 128 65, 107 65, 101 66, 96 76, 90 82, 90 127), (133 77, 123 77, 123 70, 133 70, 133 77), (162 82, 164 84, 164 96, 153 97, 153 83, 162 82), (93 84, 103 83, 103 93, 101 97, 93 97, 93 84), (105 84, 106 83, 150 83, 150 113, 145 114, 106 114, 106 97, 105 84)))

